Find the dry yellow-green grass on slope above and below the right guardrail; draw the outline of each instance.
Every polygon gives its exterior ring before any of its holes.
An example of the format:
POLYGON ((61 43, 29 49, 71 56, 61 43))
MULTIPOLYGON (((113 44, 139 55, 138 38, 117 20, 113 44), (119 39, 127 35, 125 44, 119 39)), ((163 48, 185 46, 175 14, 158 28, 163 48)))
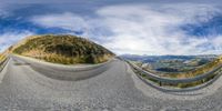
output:
MULTIPOLYGON (((185 78, 194 78, 199 74, 203 74, 205 72, 209 72, 209 71, 212 71, 213 69, 215 68, 220 68, 219 70, 216 70, 215 72, 212 72, 212 74, 210 77, 206 77, 202 80, 198 80, 198 81, 194 81, 194 82, 188 82, 188 83, 167 83, 167 82, 160 82, 158 80, 154 80, 154 79, 151 79, 149 78, 145 73, 141 72, 141 71, 138 71, 135 69, 133 69, 133 71, 135 73, 138 73, 139 75, 154 82, 154 83, 158 83, 160 85, 168 85, 168 87, 176 87, 176 88, 189 88, 189 87, 195 87, 195 85, 199 85, 199 84, 202 84, 202 83, 205 83, 210 80, 212 80, 213 78, 215 78, 218 74, 221 73, 221 63, 222 63, 222 57, 219 57, 218 59, 215 59, 214 61, 199 68, 199 69, 195 69, 193 71, 188 71, 185 73, 178 73, 178 74, 164 74, 162 77, 167 77, 167 78, 175 78, 175 79, 185 79, 185 78)), ((144 70, 144 69, 143 69, 144 70)))

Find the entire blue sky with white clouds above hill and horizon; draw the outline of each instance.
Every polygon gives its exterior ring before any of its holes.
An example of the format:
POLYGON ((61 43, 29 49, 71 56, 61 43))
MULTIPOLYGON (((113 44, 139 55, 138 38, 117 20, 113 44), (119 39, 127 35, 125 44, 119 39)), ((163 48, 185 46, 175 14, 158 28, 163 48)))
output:
POLYGON ((221 54, 220 0, 6 0, 0 51, 34 34, 88 38, 117 54, 221 54))

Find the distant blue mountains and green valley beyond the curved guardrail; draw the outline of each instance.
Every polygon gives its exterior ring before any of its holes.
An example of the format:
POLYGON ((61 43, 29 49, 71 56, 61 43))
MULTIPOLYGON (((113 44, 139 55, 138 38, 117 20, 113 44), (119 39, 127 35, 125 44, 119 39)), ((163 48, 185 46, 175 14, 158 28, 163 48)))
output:
POLYGON ((149 70, 162 72, 184 72, 199 68, 215 60, 219 56, 135 56, 124 54, 121 58, 137 61, 139 65, 149 70))

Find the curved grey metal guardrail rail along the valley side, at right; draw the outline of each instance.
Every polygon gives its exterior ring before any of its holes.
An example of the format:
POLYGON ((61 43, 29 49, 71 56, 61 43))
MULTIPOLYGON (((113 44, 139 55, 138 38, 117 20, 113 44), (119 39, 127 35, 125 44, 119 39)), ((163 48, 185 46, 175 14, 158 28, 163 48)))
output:
POLYGON ((139 70, 140 72, 144 73, 145 75, 148 75, 149 78, 153 79, 153 80, 158 80, 160 82, 165 82, 165 83, 190 83, 190 82, 195 82, 195 81, 200 81, 203 80, 208 77, 211 77, 212 73, 214 73, 215 71, 220 70, 222 68, 222 64, 220 64, 219 67, 216 67, 215 69, 213 69, 212 71, 205 72, 203 74, 199 74, 194 78, 185 78, 185 79, 171 79, 171 78, 163 78, 163 77, 159 77, 157 74, 150 73, 148 71, 142 70, 141 68, 139 68, 138 65, 127 61, 132 68, 139 70))

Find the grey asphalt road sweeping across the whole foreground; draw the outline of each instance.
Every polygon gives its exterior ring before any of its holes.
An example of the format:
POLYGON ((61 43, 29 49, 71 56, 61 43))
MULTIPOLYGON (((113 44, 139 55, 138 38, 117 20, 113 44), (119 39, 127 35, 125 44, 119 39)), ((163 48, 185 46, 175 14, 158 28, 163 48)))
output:
MULTIPOLYGON (((73 80, 49 77, 46 73, 50 72, 46 71, 51 67, 47 65, 49 68, 44 62, 12 56, 0 73, 2 77, 0 111, 221 111, 222 109, 222 78, 198 91, 168 93, 142 82, 124 61, 118 59, 105 64, 105 68, 98 67, 93 72, 94 75, 73 80)), ((54 72, 61 75, 71 73, 65 70, 54 72)))

